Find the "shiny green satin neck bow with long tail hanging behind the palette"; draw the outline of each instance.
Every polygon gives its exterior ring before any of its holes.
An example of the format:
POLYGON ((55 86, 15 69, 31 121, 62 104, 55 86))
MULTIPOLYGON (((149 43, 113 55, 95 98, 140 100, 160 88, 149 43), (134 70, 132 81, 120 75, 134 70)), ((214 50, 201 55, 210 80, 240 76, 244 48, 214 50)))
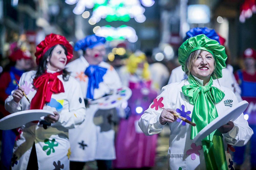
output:
MULTIPOLYGON (((212 86, 212 77, 207 85, 201 86, 192 76, 188 76, 190 84, 182 87, 182 92, 194 105, 191 121, 196 126, 191 126, 190 139, 193 139, 199 132, 218 117, 215 107, 225 96, 217 87, 212 86)), ((222 134, 217 130, 202 140, 205 163, 207 169, 228 169, 222 134), (215 157, 215 155, 218 155, 215 157)))

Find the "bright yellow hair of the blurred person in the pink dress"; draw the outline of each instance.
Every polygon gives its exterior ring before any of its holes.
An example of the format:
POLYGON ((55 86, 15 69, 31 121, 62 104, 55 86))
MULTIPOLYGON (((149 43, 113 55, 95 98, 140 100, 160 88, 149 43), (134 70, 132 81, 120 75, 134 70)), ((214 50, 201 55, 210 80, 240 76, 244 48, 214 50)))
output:
POLYGON ((138 64, 142 63, 143 64, 143 70, 142 70, 142 77, 146 80, 150 79, 150 71, 148 69, 148 62, 147 58, 144 53, 139 52, 139 53, 133 53, 128 59, 127 59, 127 65, 126 68, 128 72, 131 74, 134 74, 138 68, 138 64))

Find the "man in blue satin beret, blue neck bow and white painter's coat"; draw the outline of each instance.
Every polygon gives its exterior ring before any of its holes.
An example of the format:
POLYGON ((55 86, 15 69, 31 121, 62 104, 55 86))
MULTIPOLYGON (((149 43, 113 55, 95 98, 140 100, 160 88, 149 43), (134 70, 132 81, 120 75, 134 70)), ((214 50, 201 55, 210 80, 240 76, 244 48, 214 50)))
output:
MULTIPOLYGON (((84 99, 78 102, 90 102, 121 86, 115 69, 103 61, 105 42, 104 37, 88 35, 74 45, 74 50, 83 50, 83 56, 67 64, 67 69, 81 85, 84 99)), ((86 108, 85 121, 69 130, 70 169, 83 169, 85 162, 94 160, 98 169, 111 169, 112 160, 116 158, 113 117, 113 109, 99 110, 98 104, 86 108)))

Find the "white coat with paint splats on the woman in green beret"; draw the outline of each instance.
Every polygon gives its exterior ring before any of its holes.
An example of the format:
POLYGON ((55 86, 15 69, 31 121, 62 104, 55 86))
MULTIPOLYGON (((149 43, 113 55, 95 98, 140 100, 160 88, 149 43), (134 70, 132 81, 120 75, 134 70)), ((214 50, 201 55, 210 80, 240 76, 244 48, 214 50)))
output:
MULTIPOLYGON (((199 79, 198 79, 199 80, 199 79)), ((180 83, 171 83, 162 88, 162 93, 157 97, 163 97, 162 103, 164 108, 180 109, 182 105, 185 106, 185 112, 190 111, 192 114, 193 105, 189 103, 189 98, 182 93, 181 87, 189 84, 188 81, 183 80, 180 83)), ((201 81, 202 84, 202 81, 201 81)), ((225 93, 225 97, 217 103, 216 109, 218 114, 222 114, 230 108, 225 106, 224 101, 227 99, 233 100, 232 106, 238 103, 234 93, 223 86, 220 86, 217 82, 213 82, 213 86, 219 88, 225 93)), ((151 104, 152 105, 152 104, 151 104)), ((155 108, 149 107, 141 116, 138 124, 144 134, 153 135, 162 131, 164 125, 160 124, 159 116, 162 109, 155 110, 155 108)), ((191 117, 191 114, 187 114, 191 117)), ((186 151, 191 149, 192 140, 190 139, 191 125, 182 125, 182 122, 168 123, 170 126, 170 138, 168 149, 168 169, 206 169, 203 150, 199 150, 200 156, 195 155, 196 159, 192 160, 191 155, 186 155, 186 151)), ((243 118, 241 114, 235 121, 234 127, 226 134, 223 134, 224 148, 226 152, 227 163, 229 164, 230 155, 227 153, 227 143, 230 145, 243 146, 245 145, 253 134, 252 129, 248 126, 248 122, 243 118)), ((196 142, 196 146, 202 145, 201 141, 196 142)), ((231 161, 231 159, 230 159, 231 161)), ((229 168, 230 169, 230 168, 229 168)))

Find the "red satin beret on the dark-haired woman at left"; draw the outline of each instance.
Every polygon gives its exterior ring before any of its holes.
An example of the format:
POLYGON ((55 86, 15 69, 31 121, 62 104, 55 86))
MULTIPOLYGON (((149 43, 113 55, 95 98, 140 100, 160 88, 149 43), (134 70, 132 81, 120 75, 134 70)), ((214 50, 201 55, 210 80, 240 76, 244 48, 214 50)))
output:
POLYGON ((36 46, 35 56, 37 65, 39 64, 40 58, 44 56, 45 52, 56 44, 62 44, 67 48, 67 63, 69 62, 69 60, 73 57, 72 45, 69 44, 64 36, 51 33, 46 35, 45 39, 36 46))

